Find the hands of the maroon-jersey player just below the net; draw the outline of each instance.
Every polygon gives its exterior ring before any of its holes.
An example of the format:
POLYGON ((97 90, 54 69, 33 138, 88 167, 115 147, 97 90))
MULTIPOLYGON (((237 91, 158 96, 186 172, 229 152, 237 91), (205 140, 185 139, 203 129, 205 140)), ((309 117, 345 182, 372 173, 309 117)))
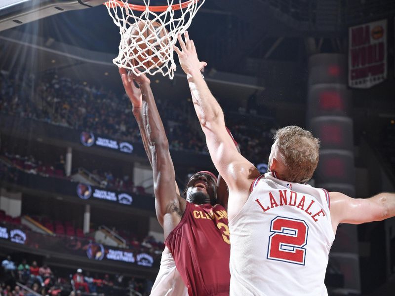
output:
MULTIPOLYGON (((138 70, 136 69, 138 72, 138 70)), ((139 73, 139 72, 138 72, 139 73)), ((131 74, 124 68, 119 68, 119 74, 122 79, 122 84, 125 89, 126 95, 129 97, 130 103, 132 103, 133 109, 140 109, 143 105, 143 97, 140 88, 138 88, 133 80, 141 86, 144 83, 150 84, 150 79, 147 78, 145 74, 140 74, 139 76, 131 74)))

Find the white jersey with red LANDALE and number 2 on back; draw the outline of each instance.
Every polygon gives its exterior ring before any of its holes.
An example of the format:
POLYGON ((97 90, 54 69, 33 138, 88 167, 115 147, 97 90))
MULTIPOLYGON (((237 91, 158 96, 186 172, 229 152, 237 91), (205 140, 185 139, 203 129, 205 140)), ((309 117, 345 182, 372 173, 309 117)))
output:
POLYGON ((335 235, 329 193, 290 183, 272 172, 251 185, 229 221, 231 296, 324 296, 335 235))

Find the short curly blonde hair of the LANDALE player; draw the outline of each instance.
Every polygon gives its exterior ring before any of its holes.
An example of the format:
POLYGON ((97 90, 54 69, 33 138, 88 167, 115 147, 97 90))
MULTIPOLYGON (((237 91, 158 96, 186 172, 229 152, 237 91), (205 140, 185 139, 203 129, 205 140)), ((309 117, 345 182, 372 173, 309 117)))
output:
POLYGON ((319 139, 299 126, 286 126, 274 135, 276 147, 286 167, 285 181, 306 183, 316 170, 319 158, 319 139))

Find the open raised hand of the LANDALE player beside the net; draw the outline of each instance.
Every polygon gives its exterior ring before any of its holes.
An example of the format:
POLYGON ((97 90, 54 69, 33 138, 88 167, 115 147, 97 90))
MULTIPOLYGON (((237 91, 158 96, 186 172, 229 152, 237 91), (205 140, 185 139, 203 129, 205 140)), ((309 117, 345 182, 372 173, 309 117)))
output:
POLYGON ((184 33, 185 42, 181 35, 178 36, 178 42, 180 48, 173 46, 174 51, 178 54, 181 68, 185 74, 193 75, 200 72, 204 67, 207 66, 206 62, 200 62, 197 58, 197 52, 193 40, 189 39, 188 31, 184 33))

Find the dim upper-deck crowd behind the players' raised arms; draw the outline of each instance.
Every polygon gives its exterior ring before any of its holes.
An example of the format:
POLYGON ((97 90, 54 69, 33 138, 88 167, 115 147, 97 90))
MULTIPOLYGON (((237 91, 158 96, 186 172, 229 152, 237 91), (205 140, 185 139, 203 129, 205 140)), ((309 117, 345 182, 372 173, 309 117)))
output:
MULTIPOLYGON (((166 100, 160 94, 156 96, 156 103, 171 149, 207 153, 199 127, 191 123, 196 121, 191 102, 166 100)), ((21 77, 0 74, 0 112, 92 131, 132 143, 141 142, 126 95, 55 74, 40 79, 28 74, 21 77)), ((242 142, 243 155, 261 152, 266 155, 270 152, 266 146, 259 147, 271 138, 266 137, 266 133, 270 134, 270 126, 257 124, 256 128, 247 128, 245 124, 233 122, 232 119, 233 116, 227 117, 227 125, 233 133, 238 130, 235 138, 242 142)), ((260 158, 260 162, 266 161, 263 156, 260 158)))

